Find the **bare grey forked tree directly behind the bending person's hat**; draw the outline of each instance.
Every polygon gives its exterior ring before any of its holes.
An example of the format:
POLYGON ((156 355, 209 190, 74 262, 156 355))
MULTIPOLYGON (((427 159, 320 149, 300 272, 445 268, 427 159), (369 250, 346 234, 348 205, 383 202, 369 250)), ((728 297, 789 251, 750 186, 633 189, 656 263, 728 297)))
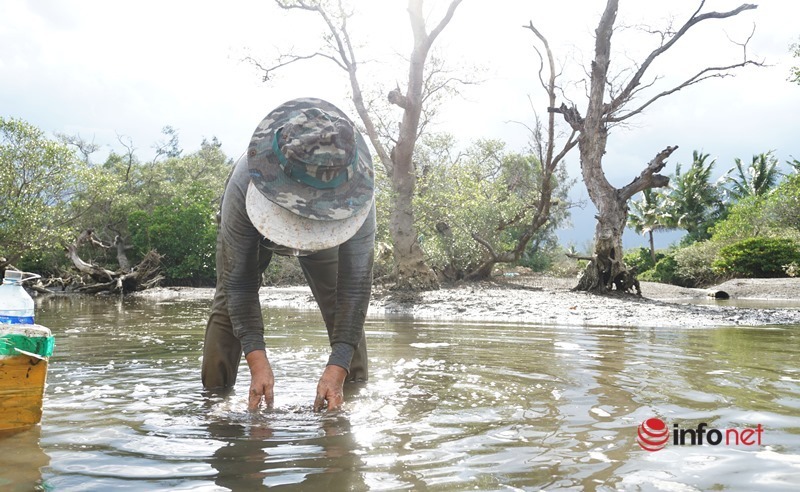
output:
MULTIPOLYGON (((427 118, 426 103, 437 92, 456 82, 454 79, 435 77, 430 68, 429 55, 433 43, 447 27, 461 0, 451 0, 447 11, 430 32, 425 22, 423 0, 409 0, 408 14, 414 35, 414 46, 408 65, 408 79, 405 89, 398 87, 387 95, 388 101, 402 109, 397 137, 385 143, 381 138, 376 116, 365 102, 362 85, 358 79, 359 61, 355 45, 348 31, 347 21, 351 16, 342 0, 322 2, 319 0, 275 0, 285 10, 305 10, 319 15, 327 27, 325 50, 306 55, 285 55, 272 65, 261 64, 252 58, 250 62, 264 71, 264 80, 292 63, 323 58, 333 62, 347 72, 352 91, 353 105, 358 112, 364 130, 375 149, 392 183, 392 210, 390 232, 392 235, 395 260, 395 288, 425 290, 438 287, 434 272, 425 262, 422 249, 417 240, 414 224, 412 198, 416 186, 416 171, 413 162, 414 148, 424 128, 427 118)), ((434 67, 438 65, 434 64, 434 67)))

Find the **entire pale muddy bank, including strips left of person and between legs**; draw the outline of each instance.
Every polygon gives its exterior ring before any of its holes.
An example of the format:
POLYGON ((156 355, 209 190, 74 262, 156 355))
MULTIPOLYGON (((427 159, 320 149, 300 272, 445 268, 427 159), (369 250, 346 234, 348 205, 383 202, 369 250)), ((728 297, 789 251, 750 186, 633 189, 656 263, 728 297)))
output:
MULTIPOLYGON (((707 298, 710 292, 716 291, 725 291, 731 299, 798 299, 800 278, 730 280, 708 289, 643 282, 641 298, 633 295, 597 296, 572 292, 570 289, 574 285, 574 279, 518 276, 416 294, 377 287, 370 303, 369 315, 583 326, 800 325, 800 307, 752 309, 686 303, 691 299, 707 298)), ((138 295, 157 299, 192 298, 210 301, 213 290, 161 288, 138 295)), ((305 286, 264 287, 260 297, 264 306, 316 308, 311 291, 305 286)))

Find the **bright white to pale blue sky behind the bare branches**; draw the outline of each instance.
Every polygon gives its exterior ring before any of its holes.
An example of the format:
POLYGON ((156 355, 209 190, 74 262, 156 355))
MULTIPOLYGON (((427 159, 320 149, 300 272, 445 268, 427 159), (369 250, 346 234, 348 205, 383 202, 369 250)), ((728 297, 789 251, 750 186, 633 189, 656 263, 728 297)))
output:
MULTIPOLYGON (((442 1, 429 1, 437 19, 442 1)), ((592 32, 605 2, 595 0, 464 0, 453 22, 437 41, 435 54, 457 73, 477 73, 481 83, 462 88, 442 107, 435 130, 455 134, 465 144, 476 138, 499 138, 522 150, 533 106, 542 111, 538 60, 531 33, 533 21, 550 39, 565 77, 580 80, 593 49, 592 32)), ((697 1, 675 0, 666 7, 650 2, 620 2, 615 34, 616 68, 652 49, 651 38, 635 26, 663 27, 670 16, 686 18, 697 1)), ((706 10, 728 10, 741 2, 709 0, 706 10)), ((353 34, 362 40, 363 79, 373 94, 402 85, 410 50, 405 2, 358 2, 353 34)), ((653 156, 678 145, 669 160, 691 163, 692 151, 717 160, 717 174, 774 150, 781 162, 800 158, 797 115, 800 86, 787 81, 792 59, 789 45, 800 39, 800 3, 765 0, 736 19, 714 21, 687 36, 669 57, 654 67, 656 87, 665 87, 700 66, 738 61, 755 26, 748 53, 768 66, 741 71, 681 91, 648 109, 609 139, 605 169, 621 186, 635 177, 653 156), (659 86, 658 84, 666 84, 659 86)), ((120 150, 130 141, 146 159, 162 139, 165 125, 176 128, 189 151, 203 138, 216 136, 231 157, 245 149, 252 129, 266 112, 299 96, 317 96, 351 107, 343 72, 315 61, 290 68, 263 83, 247 55, 265 61, 290 48, 298 52, 319 45, 320 26, 313 15, 287 13, 266 0, 0 0, 0 114, 18 117, 55 133, 79 134, 103 147, 120 150)), ((565 79, 566 80, 566 79, 565 79)), ((566 87, 579 108, 583 87, 566 87)), ((101 153, 98 153, 100 156, 101 153)), ((98 157, 99 158, 99 157, 98 157)), ((567 159, 579 177, 577 152, 567 159)), ((587 207, 573 213, 573 227, 560 232, 579 248, 593 235, 594 210, 582 183, 573 197, 587 207)), ((657 236, 667 246, 675 234, 657 236)), ((626 245, 643 244, 632 231, 626 245)))

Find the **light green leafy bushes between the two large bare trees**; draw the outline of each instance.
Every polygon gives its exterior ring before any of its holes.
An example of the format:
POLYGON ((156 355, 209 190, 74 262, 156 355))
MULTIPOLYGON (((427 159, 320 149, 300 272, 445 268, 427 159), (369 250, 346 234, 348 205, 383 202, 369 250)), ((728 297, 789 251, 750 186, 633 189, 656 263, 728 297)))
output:
MULTIPOLYGON (((477 269, 489 248, 499 254, 517 246, 536 211, 543 170, 534 156, 506 153, 499 141, 478 141, 456 159, 453 146, 446 136, 418 146, 422 175, 414 209, 428 264, 456 279, 477 269)), ((553 181, 550 218, 531 239, 528 261, 537 247, 552 244, 548 238, 567 218, 566 171, 553 181)))

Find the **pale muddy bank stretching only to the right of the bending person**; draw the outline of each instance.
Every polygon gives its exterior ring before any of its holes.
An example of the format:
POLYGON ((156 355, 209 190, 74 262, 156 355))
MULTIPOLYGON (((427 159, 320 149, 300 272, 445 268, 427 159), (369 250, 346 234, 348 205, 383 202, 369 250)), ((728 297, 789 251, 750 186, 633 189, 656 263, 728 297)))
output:
MULTIPOLYGON (((745 281, 710 289, 686 289, 645 283, 643 297, 597 296, 573 292, 572 279, 520 279, 519 282, 465 285, 426 292, 417 299, 389 294, 379 299, 383 312, 424 318, 523 321, 584 326, 699 327, 731 325, 800 324, 797 309, 743 309, 721 305, 687 304, 727 289, 731 298, 791 299, 800 282, 762 291, 745 281), (751 295, 752 294, 752 295, 751 295), (769 294, 769 295, 768 295, 769 294)), ((799 279, 800 280, 800 279, 799 279)))

